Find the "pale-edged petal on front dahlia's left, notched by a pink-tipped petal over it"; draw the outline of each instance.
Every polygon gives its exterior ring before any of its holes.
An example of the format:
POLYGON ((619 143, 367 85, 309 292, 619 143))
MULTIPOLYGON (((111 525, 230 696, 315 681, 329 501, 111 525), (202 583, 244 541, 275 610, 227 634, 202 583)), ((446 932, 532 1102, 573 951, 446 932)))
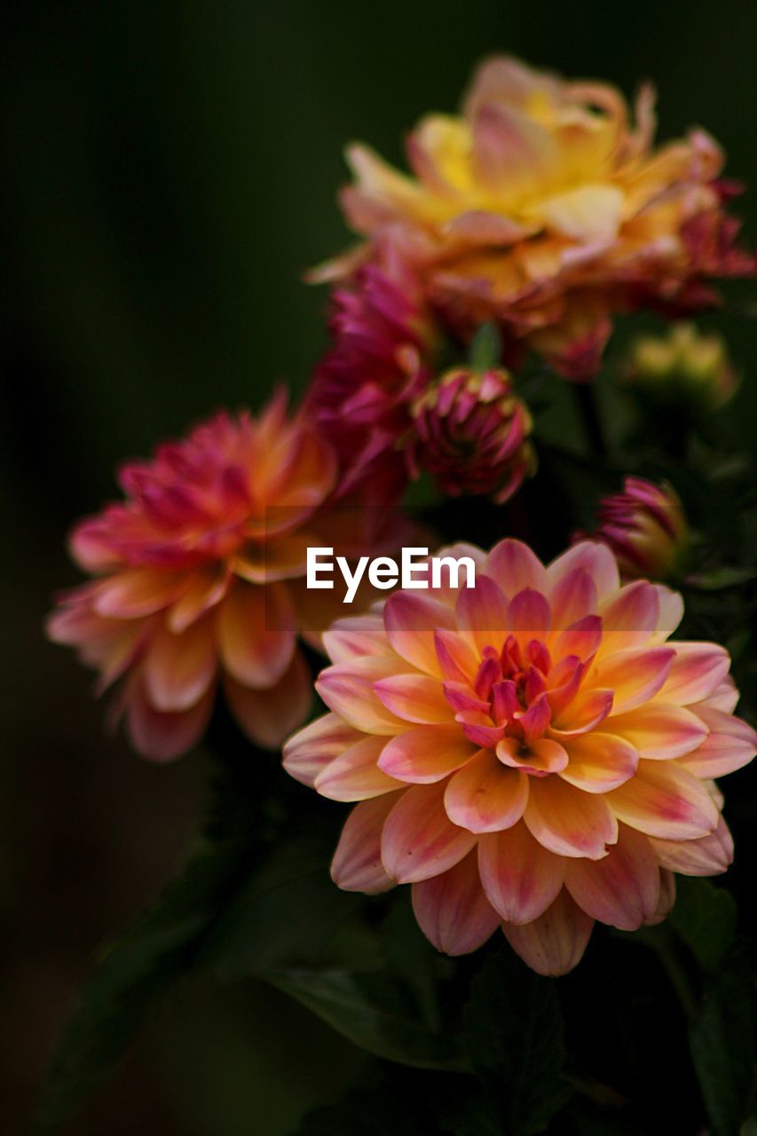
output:
POLYGON ((366 734, 399 734, 406 722, 391 713, 374 693, 374 685, 393 675, 396 668, 396 659, 365 655, 326 667, 315 685, 328 709, 357 729, 366 734))

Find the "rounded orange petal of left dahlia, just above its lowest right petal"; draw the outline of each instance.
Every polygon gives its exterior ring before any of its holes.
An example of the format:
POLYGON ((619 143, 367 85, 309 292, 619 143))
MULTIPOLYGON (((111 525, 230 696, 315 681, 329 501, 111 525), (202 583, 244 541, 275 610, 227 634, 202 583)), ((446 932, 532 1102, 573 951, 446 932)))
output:
POLYGON ((218 608, 218 645, 224 667, 243 686, 267 690, 277 683, 296 645, 284 585, 236 579, 218 608))

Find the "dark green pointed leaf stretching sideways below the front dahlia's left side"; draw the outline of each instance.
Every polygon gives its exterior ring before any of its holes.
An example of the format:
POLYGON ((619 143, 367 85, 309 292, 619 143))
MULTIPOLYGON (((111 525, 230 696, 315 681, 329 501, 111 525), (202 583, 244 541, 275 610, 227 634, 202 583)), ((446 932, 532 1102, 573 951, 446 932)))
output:
POLYGON ((452 1041, 425 1028, 406 988, 386 975, 291 969, 261 977, 375 1056, 422 1069, 460 1068, 452 1041))

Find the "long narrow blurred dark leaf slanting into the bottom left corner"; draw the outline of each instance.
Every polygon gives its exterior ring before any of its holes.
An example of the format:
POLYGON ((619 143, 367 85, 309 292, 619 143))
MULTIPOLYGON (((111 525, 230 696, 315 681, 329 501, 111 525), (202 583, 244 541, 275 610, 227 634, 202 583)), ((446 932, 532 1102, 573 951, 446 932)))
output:
POLYGON ((238 870, 228 845, 194 860, 158 904, 110 946, 84 983, 50 1064, 36 1131, 58 1131, 105 1081, 153 1001, 198 962, 238 870))

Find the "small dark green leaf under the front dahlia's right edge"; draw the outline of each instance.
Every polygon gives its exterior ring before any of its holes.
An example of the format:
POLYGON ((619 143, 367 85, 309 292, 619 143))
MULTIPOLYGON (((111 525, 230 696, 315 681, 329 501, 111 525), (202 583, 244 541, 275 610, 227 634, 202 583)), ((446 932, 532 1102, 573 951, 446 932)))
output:
POLYGON ((704 970, 715 971, 733 946, 737 905, 730 892, 708 879, 682 876, 676 882, 671 926, 704 970))

